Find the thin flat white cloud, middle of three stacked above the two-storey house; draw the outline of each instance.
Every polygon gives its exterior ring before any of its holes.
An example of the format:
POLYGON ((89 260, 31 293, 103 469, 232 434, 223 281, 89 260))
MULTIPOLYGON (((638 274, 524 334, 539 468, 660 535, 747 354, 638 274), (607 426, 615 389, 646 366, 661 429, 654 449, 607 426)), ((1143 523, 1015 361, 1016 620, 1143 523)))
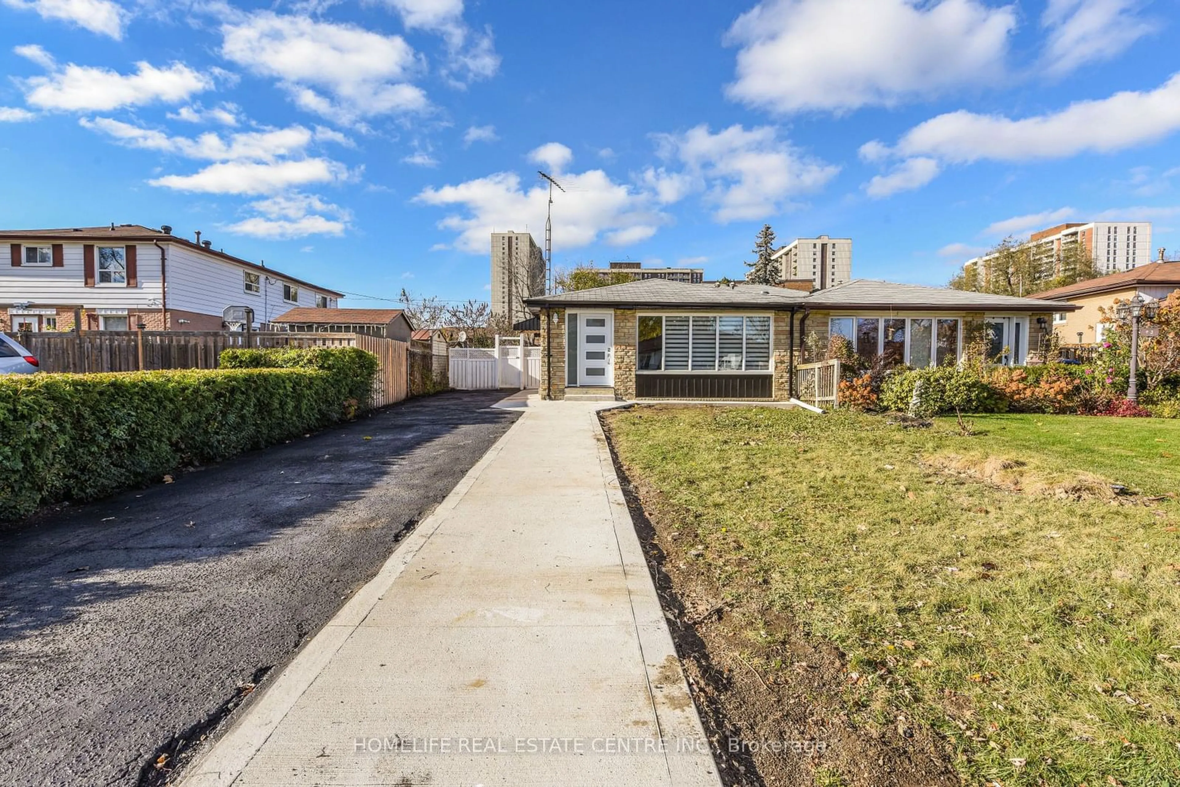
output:
POLYGON ((192 175, 165 175, 152 185, 202 194, 268 195, 312 183, 341 183, 348 169, 326 158, 266 162, 219 162, 192 175))

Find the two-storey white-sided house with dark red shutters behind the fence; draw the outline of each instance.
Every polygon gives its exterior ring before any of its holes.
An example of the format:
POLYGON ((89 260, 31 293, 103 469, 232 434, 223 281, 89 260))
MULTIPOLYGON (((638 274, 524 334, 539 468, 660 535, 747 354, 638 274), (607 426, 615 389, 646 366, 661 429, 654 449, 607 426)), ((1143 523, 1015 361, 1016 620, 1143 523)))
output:
POLYGON ((264 323, 342 293, 139 224, 0 230, 0 330, 221 330, 230 306, 264 323), (4 247, 11 254, 4 256, 4 247))

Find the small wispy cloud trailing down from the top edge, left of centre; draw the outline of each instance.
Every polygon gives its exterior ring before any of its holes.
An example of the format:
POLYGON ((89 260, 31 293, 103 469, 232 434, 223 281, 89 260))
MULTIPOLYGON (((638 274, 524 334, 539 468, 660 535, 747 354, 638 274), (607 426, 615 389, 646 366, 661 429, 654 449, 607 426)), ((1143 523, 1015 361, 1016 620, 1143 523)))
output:
POLYGON ((500 68, 500 57, 490 29, 472 29, 463 20, 463 0, 384 0, 401 17, 406 29, 438 33, 446 42, 442 76, 453 86, 487 79, 500 68))

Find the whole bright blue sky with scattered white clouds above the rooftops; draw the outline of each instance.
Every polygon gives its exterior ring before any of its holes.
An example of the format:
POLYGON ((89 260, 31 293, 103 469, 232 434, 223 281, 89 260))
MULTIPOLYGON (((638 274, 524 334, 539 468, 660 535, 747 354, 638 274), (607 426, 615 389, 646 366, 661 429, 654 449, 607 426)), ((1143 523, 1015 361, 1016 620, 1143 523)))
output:
MULTIPOLYGON (((1171 0, 0 0, 0 222, 171 224, 348 293, 557 265, 739 276, 763 222, 943 283, 1009 234, 1180 247, 1171 0)), ((346 304, 367 306, 361 297, 346 304)))

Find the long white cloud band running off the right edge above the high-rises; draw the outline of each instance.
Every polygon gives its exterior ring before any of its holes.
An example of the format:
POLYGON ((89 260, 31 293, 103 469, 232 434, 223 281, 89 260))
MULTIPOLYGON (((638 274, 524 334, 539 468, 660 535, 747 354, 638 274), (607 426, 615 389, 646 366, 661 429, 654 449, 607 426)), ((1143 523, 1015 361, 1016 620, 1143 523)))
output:
POLYGON ((1109 153, 1155 142, 1180 130, 1180 73, 1153 91, 1123 91, 1075 101, 1064 110, 1020 120, 959 110, 906 132, 904 156, 936 156, 966 164, 979 159, 1029 162, 1109 153))

